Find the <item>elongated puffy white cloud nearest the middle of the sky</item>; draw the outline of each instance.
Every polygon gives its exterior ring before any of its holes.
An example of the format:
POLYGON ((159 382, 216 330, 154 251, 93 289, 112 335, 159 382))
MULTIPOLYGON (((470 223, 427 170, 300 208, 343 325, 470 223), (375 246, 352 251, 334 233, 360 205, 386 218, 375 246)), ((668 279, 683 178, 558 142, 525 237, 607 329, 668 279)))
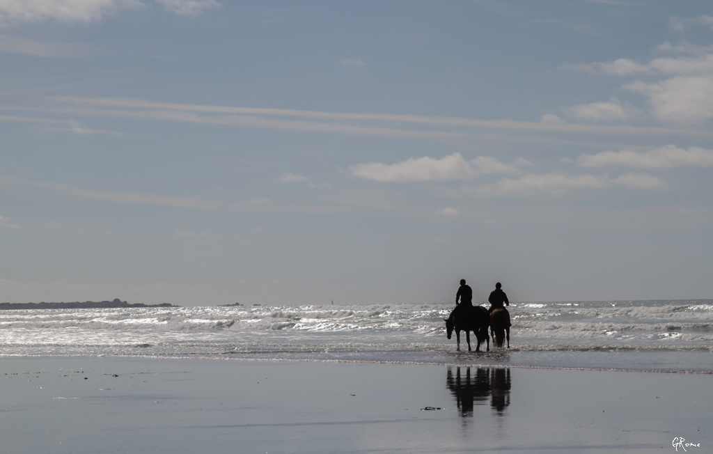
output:
POLYGON ((466 180, 473 177, 473 169, 461 153, 453 153, 441 159, 428 156, 410 158, 391 165, 371 162, 352 165, 349 170, 356 177, 380 182, 466 180))

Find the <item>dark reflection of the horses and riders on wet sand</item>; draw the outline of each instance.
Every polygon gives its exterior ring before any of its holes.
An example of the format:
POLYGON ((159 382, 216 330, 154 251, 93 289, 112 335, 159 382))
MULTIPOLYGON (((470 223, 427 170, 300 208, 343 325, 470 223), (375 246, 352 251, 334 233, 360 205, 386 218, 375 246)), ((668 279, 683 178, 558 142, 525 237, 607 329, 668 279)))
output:
POLYGON ((510 405, 510 368, 448 367, 446 386, 456 398, 461 416, 473 416, 473 406, 484 405, 488 398, 498 413, 510 405), (464 371, 461 371, 464 369, 464 371))

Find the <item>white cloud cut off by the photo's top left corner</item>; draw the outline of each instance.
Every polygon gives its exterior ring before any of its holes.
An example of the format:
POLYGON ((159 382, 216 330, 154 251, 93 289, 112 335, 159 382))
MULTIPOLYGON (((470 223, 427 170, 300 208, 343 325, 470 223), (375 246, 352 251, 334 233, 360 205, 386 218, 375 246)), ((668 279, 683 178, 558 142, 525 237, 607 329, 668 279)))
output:
POLYGON ((56 19, 66 22, 98 21, 118 9, 143 6, 139 0, 2 0, 0 23, 14 24, 56 19))

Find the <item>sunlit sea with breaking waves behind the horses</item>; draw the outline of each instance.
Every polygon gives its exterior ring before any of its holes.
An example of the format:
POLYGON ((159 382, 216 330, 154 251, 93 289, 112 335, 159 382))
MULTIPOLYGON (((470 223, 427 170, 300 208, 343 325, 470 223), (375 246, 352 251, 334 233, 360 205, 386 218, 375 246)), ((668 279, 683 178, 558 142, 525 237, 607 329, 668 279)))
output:
MULTIPOLYGON (((487 304, 483 304, 487 306, 487 304)), ((0 356, 351 361, 713 373, 713 300, 519 302, 511 348, 461 351, 448 304, 0 311, 0 356)))

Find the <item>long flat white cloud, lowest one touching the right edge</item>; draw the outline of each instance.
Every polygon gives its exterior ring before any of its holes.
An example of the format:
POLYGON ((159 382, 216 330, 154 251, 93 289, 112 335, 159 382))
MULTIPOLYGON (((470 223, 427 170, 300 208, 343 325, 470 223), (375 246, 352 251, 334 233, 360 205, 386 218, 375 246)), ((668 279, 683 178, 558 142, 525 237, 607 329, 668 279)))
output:
POLYGON ((621 165, 641 169, 685 166, 712 167, 713 150, 705 150, 700 147, 683 150, 675 145, 666 145, 657 150, 644 153, 631 150, 618 152, 610 150, 595 155, 580 155, 577 162, 582 167, 605 167, 607 165, 621 165))

